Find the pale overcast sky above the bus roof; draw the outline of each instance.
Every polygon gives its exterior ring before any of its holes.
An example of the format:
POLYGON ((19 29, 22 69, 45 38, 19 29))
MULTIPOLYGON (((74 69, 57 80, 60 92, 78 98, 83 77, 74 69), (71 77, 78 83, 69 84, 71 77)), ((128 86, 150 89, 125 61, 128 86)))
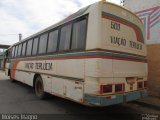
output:
MULTIPOLYGON (((100 0, 0 0, 0 44, 18 41, 100 0)), ((108 0, 120 4, 120 0, 108 0)))

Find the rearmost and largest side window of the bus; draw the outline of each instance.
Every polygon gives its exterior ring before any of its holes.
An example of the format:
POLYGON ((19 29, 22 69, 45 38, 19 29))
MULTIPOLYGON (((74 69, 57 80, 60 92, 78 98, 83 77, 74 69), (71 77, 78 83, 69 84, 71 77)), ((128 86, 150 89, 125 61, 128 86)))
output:
POLYGON ((85 48, 87 20, 81 20, 73 24, 72 50, 83 50, 85 48))

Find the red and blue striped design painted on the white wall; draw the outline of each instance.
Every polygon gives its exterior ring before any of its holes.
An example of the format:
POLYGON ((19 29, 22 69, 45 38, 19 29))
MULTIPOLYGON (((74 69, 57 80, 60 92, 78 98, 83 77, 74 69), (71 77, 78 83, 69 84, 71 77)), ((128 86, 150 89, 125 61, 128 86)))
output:
POLYGON ((140 17, 145 26, 147 40, 150 39, 150 29, 160 22, 160 6, 138 11, 136 14, 140 17))

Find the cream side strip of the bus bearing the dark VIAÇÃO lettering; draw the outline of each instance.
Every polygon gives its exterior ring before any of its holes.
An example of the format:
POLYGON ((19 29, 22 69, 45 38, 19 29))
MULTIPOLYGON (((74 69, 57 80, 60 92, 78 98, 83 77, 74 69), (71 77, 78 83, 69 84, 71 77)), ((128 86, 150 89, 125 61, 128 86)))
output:
MULTIPOLYGON (((19 60, 15 69, 26 72, 42 73, 60 77, 84 79, 84 59, 52 59, 43 58, 31 60, 19 60), (41 60, 42 59, 42 60, 41 60), (78 69, 77 69, 78 66, 78 69)), ((14 77, 13 77, 14 78, 14 77)))

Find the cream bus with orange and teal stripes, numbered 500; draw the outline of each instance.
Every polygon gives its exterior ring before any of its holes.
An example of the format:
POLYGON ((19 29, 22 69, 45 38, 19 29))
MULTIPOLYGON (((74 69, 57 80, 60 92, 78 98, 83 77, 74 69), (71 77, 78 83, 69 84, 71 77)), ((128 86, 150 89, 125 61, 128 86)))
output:
POLYGON ((129 10, 99 1, 10 47, 6 74, 35 90, 88 106, 147 96, 144 26, 129 10))

